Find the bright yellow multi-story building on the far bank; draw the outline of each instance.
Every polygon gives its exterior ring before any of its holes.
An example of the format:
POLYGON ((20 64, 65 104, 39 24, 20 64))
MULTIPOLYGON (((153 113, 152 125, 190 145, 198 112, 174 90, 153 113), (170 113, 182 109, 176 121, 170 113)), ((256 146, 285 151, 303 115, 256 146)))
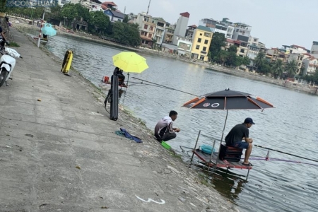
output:
POLYGON ((191 58, 208 61, 208 49, 211 44, 213 32, 210 28, 199 25, 194 30, 192 39, 191 58))

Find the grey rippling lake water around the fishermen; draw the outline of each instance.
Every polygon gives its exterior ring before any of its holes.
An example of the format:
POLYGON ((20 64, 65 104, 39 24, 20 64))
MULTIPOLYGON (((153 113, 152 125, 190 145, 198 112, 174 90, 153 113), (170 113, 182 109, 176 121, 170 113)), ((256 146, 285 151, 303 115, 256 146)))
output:
MULTIPOLYGON (((111 76, 114 66, 112 56, 122 49, 107 47, 74 37, 57 35, 51 37, 46 47, 61 59, 66 50, 73 51, 73 67, 96 86, 102 76, 111 76)), ((187 64, 176 59, 141 54, 146 57, 149 69, 143 73, 131 73, 129 86, 120 102, 139 117, 148 128, 153 129, 159 119, 176 110, 178 118, 174 126, 181 129, 177 138, 169 141, 172 148, 194 147, 198 131, 199 143, 212 145, 211 138, 220 139, 225 111, 189 110, 181 107, 194 96, 136 84, 136 78, 183 90, 194 95, 203 95, 230 88, 257 95, 276 106, 274 109, 230 111, 225 135, 235 124, 252 117, 256 123, 250 131, 254 144, 318 160, 318 98, 298 93, 279 86, 227 75, 187 64)), ((254 147, 251 158, 265 157, 263 148, 254 147)), ((274 151, 270 157, 314 163, 274 151)), ((237 204, 241 211, 318 211, 317 166, 302 163, 251 160, 254 167, 246 181, 246 170, 232 170, 238 175, 215 174, 211 177, 214 187, 237 204)), ((314 163, 318 165, 318 163, 314 163)))

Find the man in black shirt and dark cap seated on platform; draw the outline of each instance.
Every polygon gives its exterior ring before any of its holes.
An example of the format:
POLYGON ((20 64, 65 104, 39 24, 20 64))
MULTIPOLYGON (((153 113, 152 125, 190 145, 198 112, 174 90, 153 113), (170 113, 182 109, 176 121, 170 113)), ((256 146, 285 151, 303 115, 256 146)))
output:
POLYGON ((249 163, 249 155, 252 153, 253 139, 249 138, 249 128, 253 124, 253 119, 246 118, 244 123, 235 125, 225 137, 226 146, 246 148, 243 165, 252 166, 252 163, 249 163), (242 142, 243 139, 245 142, 242 142))

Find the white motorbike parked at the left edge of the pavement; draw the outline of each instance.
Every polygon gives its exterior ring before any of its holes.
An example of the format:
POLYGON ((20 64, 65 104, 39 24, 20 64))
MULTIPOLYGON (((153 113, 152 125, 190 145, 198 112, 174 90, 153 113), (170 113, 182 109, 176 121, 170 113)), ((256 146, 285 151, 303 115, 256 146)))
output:
MULTIPOLYGON (((1 40, 2 39, 0 39, 0 42, 1 40)), ((6 42, 6 44, 9 45, 8 42, 6 42)), ((0 53, 2 54, 2 57, 0 58, 0 87, 1 87, 10 78, 10 75, 14 69, 14 66, 16 66, 16 58, 20 57, 20 54, 16 52, 15 49, 4 47, 2 45, 0 45, 0 53)), ((6 86, 8 86, 7 83, 6 83, 6 86)))

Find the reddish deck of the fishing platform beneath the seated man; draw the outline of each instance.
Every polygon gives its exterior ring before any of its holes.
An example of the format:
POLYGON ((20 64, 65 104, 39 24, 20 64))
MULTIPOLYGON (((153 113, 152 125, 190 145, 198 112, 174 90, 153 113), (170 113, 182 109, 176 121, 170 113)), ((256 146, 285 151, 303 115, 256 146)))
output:
MULTIPOLYGON (((207 163, 207 164, 209 163, 211 155, 206 154, 199 149, 196 149, 193 152, 198 158, 204 161, 204 163, 207 163)), ((218 153, 213 153, 211 158, 211 164, 209 164, 209 166, 226 167, 226 168, 231 167, 235 169, 252 170, 252 166, 242 165, 242 160, 239 162, 229 162, 228 160, 218 160, 218 163, 216 164, 216 158, 218 158, 218 153)))

